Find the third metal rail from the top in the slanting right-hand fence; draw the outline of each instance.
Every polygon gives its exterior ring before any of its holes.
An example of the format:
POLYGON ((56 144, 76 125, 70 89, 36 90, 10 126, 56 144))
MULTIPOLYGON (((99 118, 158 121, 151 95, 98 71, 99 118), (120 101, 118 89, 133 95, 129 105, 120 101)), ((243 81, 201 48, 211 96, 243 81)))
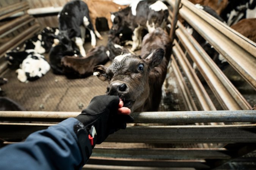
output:
POLYGON ((212 103, 212 100, 204 89, 203 84, 198 79, 198 76, 188 62, 187 57, 183 53, 181 47, 176 40, 174 40, 173 54, 178 59, 182 70, 184 71, 190 84, 192 85, 195 94, 199 100, 199 104, 201 105, 203 110, 216 110, 214 104, 212 103))

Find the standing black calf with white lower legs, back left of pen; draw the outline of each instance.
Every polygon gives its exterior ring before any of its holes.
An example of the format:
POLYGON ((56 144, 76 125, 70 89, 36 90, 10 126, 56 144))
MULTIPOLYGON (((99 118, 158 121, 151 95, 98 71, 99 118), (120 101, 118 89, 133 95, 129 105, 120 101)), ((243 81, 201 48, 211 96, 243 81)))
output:
POLYGON ((86 56, 83 43, 85 40, 85 28, 89 29, 91 34, 91 45, 96 46, 96 37, 94 28, 90 20, 89 10, 86 3, 81 0, 74 0, 66 3, 58 14, 59 18, 59 39, 69 38, 78 46, 83 57, 86 56))

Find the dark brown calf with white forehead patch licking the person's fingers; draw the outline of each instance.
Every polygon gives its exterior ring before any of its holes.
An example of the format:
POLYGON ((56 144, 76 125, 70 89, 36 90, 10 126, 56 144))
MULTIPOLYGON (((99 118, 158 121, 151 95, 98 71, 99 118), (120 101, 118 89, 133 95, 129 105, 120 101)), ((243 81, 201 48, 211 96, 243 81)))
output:
POLYGON ((170 39, 161 28, 147 34, 142 42, 141 56, 116 56, 107 68, 94 67, 101 80, 108 80, 107 95, 119 96, 131 111, 157 111, 162 84, 170 60, 170 39))

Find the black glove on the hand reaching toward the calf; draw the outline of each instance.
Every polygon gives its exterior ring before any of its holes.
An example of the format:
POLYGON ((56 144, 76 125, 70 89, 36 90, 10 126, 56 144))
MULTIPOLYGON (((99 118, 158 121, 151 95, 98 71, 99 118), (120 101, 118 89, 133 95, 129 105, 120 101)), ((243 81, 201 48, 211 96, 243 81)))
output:
POLYGON ((94 125, 97 134, 96 144, 101 144, 109 134, 125 129, 126 123, 134 121, 129 115, 117 114, 118 104, 119 97, 117 96, 96 96, 93 97, 88 107, 75 117, 83 123, 88 132, 94 125))

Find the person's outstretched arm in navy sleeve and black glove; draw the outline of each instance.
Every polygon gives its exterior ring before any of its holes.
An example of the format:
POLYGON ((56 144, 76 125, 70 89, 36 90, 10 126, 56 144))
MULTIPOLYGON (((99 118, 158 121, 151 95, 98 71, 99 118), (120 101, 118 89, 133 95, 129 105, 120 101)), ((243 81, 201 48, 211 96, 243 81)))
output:
POLYGON ((120 109, 124 111, 123 113, 129 113, 125 111, 126 108, 120 106, 122 102, 119 102, 116 96, 97 96, 76 119, 66 119, 46 130, 32 133, 23 143, 2 148, 0 169, 70 170, 82 168, 89 159, 95 143, 99 144, 107 138, 108 134, 119 128, 125 128, 126 121, 129 120, 120 118, 121 115, 118 116, 118 113, 121 113, 120 109), (94 108, 99 106, 102 100, 105 102, 101 104, 100 110, 95 110, 94 108), (97 111, 101 112, 97 113, 97 111), (119 123, 117 124, 116 121, 119 123), (113 124, 109 125, 110 122, 113 124), (91 125, 96 127, 97 132, 97 139, 93 145, 88 139, 88 129, 91 125), (108 130, 102 130, 102 125, 108 130))

